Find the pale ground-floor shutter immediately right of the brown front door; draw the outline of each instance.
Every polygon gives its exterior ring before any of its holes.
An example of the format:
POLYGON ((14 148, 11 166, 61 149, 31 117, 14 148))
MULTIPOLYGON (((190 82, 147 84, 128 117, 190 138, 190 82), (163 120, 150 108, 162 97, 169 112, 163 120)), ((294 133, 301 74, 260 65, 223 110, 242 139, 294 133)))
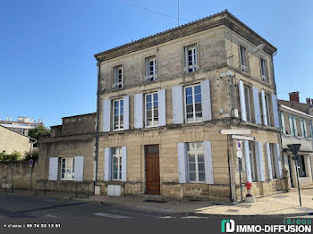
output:
POLYGON ((187 146, 186 143, 177 143, 178 156, 178 181, 181 184, 187 183, 187 146))

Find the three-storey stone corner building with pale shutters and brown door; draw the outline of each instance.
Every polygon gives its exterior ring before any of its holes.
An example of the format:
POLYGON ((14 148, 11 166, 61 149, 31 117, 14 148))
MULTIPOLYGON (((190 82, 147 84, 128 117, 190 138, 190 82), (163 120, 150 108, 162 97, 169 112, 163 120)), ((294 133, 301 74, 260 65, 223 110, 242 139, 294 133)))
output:
POLYGON ((95 54, 98 184, 112 196, 237 200, 285 188, 275 46, 228 11, 95 54), (273 171, 276 171, 275 176, 273 171))

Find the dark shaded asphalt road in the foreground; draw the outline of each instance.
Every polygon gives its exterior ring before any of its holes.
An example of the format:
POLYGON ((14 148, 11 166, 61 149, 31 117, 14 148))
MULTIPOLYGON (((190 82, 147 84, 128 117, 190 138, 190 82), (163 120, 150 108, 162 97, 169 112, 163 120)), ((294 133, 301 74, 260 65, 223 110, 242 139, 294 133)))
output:
MULTIPOLYGON (((113 219, 200 219, 186 215, 142 212, 118 207, 101 205, 96 202, 81 202, 63 198, 42 196, 23 196, 16 194, 0 195, 0 218, 99 218, 113 219)), ((202 219, 207 218, 203 217, 202 219)))

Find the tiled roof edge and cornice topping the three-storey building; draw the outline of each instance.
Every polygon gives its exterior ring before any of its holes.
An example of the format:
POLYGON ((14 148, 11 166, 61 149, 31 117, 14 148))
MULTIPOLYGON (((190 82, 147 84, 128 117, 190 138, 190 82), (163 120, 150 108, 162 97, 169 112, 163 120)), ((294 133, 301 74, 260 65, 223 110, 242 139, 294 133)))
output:
MULTIPOLYGON (((105 54, 108 55, 108 54, 112 54, 113 52, 116 52, 118 50, 125 49, 127 47, 138 46, 138 45, 141 45, 141 44, 145 44, 148 41, 156 39, 157 37, 163 37, 163 39, 165 39, 166 35, 170 35, 171 36, 171 38, 167 38, 167 40, 165 40, 165 41, 169 41, 169 40, 173 39, 173 34, 175 32, 178 32, 178 31, 180 31, 182 29, 195 29, 196 26, 199 26, 200 24, 203 24, 203 23, 207 24, 206 25, 207 27, 201 27, 201 29, 198 29, 198 31, 199 30, 209 29, 209 28, 216 27, 216 26, 219 26, 219 25, 227 25, 230 28, 238 29, 238 25, 240 25, 245 30, 244 33, 241 33, 241 36, 243 36, 245 38, 247 38, 249 36, 250 37, 254 37, 254 38, 258 38, 258 42, 262 42, 262 43, 264 43, 266 45, 264 50, 267 53, 269 53, 269 54, 274 54, 276 52, 276 50, 277 50, 277 48, 275 46, 273 46, 272 44, 270 44, 268 41, 266 41, 265 38, 262 38, 261 36, 259 36, 258 33, 256 33, 254 30, 250 29, 246 24, 244 24, 242 21, 240 21, 235 16, 233 16, 232 13, 229 13, 227 9, 225 9, 223 12, 207 16, 205 18, 199 19, 198 21, 192 21, 190 23, 183 24, 183 25, 175 27, 173 29, 167 29, 165 31, 159 32, 159 33, 154 34, 152 36, 149 36, 147 38, 141 38, 139 40, 132 41, 131 43, 127 43, 127 44, 124 44, 122 46, 116 46, 116 47, 108 49, 108 50, 106 50, 104 52, 97 53, 94 56, 97 59, 97 61, 100 62, 100 61, 103 61, 103 59, 101 59, 101 57, 103 55, 105 55, 105 54), (218 17, 222 17, 224 19, 220 19, 220 21, 218 21, 218 23, 214 23, 214 20, 215 19, 218 20, 217 19, 218 17), (211 25, 208 25, 208 24, 211 24, 211 25), (235 24, 237 25, 237 27, 235 26, 235 24)), ((190 34, 195 33, 195 32, 197 32, 197 30, 194 31, 194 32, 191 32, 190 34)), ((185 36, 187 36, 186 33, 179 33, 177 35, 177 38, 182 38, 182 37, 185 37, 185 36)), ((154 45, 150 45, 149 43, 147 43, 147 45, 141 45, 141 46, 138 46, 138 47, 134 47, 134 48, 132 48, 129 51, 126 50, 123 54, 128 54, 128 53, 131 53, 131 52, 134 52, 134 51, 138 51, 140 49, 143 49, 143 48, 146 48, 146 47, 149 47, 149 46, 156 46, 156 45, 161 44, 161 43, 163 43, 165 41, 163 41, 163 40, 154 41, 152 43, 154 45)), ((114 57, 116 57, 116 56, 114 56, 114 57)))

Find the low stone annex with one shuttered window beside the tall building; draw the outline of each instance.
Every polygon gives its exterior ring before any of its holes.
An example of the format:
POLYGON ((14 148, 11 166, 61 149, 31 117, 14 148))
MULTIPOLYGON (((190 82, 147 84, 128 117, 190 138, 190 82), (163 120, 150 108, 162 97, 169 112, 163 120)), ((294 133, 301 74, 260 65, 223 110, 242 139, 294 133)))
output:
POLYGON ((50 180, 47 188, 73 190, 73 181, 95 180, 96 113, 63 117, 51 126, 50 137, 40 138, 37 180, 50 180))

